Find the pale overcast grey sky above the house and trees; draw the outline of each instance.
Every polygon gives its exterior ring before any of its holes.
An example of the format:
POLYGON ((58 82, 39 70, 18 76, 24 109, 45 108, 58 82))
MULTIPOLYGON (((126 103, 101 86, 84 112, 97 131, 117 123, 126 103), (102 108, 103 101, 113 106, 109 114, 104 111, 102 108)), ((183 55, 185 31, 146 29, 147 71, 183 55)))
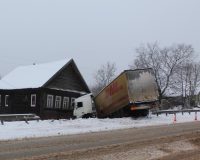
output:
POLYGON ((200 0, 0 0, 0 74, 74 58, 88 84, 107 61, 128 68, 141 43, 200 51, 200 0))

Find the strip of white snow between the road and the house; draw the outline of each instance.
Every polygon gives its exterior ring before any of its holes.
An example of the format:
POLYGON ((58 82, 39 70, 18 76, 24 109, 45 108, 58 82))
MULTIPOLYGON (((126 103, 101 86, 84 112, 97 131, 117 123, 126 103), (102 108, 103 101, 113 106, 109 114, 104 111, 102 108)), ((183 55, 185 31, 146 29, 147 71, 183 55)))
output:
MULTIPOLYGON (((200 119, 200 113, 198 113, 200 119)), ((144 126, 155 126, 172 124, 174 115, 165 114, 148 118, 114 118, 114 119, 75 119, 75 120, 44 120, 25 122, 5 122, 0 125, 0 140, 23 139, 32 137, 48 137, 58 135, 81 134, 88 132, 109 131, 125 128, 138 128, 144 126)), ((176 123, 192 122, 195 113, 177 114, 176 123)))

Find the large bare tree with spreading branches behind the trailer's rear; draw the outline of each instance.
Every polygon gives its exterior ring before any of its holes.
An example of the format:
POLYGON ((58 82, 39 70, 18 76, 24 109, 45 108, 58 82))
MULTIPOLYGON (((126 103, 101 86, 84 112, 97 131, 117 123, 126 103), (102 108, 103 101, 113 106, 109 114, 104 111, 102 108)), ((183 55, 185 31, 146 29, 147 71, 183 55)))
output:
POLYGON ((157 43, 136 49, 138 57, 131 68, 152 68, 158 85, 160 101, 173 83, 172 76, 177 66, 191 59, 191 45, 178 44, 161 48, 157 43))

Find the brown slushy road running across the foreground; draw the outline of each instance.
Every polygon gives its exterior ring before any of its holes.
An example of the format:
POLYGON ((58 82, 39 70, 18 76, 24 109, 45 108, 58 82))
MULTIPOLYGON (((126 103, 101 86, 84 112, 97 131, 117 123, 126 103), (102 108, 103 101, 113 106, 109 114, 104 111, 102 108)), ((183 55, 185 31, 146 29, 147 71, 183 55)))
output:
POLYGON ((0 160, 200 159, 200 122, 0 141, 0 160))

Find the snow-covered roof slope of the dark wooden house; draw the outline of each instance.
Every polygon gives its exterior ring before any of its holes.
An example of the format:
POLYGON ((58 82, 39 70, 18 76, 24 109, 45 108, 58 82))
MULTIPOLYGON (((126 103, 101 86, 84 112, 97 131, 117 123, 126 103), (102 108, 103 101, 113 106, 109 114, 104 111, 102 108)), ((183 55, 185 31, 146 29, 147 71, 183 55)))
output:
POLYGON ((23 89, 42 87, 71 59, 44 64, 21 66, 0 80, 0 89, 23 89))

